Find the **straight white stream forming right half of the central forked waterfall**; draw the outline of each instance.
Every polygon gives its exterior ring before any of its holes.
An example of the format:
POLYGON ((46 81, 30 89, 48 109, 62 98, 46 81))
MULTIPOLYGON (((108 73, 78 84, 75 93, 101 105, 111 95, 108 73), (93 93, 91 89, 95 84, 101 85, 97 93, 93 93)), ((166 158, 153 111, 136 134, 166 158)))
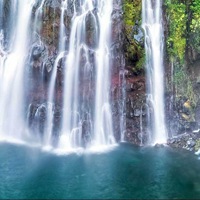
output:
POLYGON ((99 1, 99 46, 97 50, 97 80, 95 99, 95 142, 98 145, 114 143, 112 114, 109 103, 109 80, 110 80, 110 32, 112 1, 99 1))

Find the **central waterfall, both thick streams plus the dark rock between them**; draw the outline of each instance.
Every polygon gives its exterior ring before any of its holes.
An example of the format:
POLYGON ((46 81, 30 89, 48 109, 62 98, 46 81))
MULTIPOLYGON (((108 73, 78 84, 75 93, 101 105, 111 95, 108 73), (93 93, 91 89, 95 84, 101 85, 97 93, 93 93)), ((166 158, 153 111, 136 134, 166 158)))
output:
POLYGON ((68 148, 81 146, 82 137, 85 137, 85 140, 89 138, 92 145, 114 143, 109 102, 109 45, 113 2, 84 0, 79 4, 77 6, 76 2, 73 3, 59 142, 60 147, 68 148), (92 33, 88 30, 87 23, 93 29, 92 33), (95 91, 94 97, 92 87, 95 91), (82 132, 83 123, 90 126, 87 133, 82 132))

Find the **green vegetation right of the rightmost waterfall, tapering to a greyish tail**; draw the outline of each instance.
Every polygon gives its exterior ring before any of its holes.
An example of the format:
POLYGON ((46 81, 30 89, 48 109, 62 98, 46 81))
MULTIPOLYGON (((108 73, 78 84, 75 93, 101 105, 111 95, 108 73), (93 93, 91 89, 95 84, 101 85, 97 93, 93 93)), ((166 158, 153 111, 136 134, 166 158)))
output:
POLYGON ((197 103, 189 73, 188 49, 200 52, 200 0, 166 0, 168 34, 166 47, 169 60, 174 63, 173 83, 177 97, 197 103))

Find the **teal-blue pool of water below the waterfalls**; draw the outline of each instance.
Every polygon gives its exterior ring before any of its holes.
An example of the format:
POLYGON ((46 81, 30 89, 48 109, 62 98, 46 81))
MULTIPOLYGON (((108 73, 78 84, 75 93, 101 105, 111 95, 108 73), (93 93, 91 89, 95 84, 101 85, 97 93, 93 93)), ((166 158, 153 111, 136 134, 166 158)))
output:
POLYGON ((58 156, 0 143, 0 198, 200 198, 200 160, 167 147, 58 156))

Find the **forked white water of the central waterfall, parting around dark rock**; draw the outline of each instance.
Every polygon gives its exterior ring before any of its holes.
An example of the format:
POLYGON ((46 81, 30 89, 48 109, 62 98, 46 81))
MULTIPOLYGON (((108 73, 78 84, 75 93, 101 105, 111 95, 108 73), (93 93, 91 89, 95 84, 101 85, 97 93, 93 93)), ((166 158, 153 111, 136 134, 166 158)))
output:
MULTIPOLYGON (((90 132, 94 145, 114 143, 112 130, 112 115, 109 104, 109 42, 112 1, 99 0, 96 4, 90 0, 80 3, 80 8, 74 3, 74 15, 70 33, 69 52, 66 58, 65 86, 64 86, 64 115, 62 120, 62 135, 60 147, 75 148, 81 146, 82 137, 82 104, 79 95, 79 74, 83 54, 85 65, 90 68, 87 45, 86 20, 90 15, 97 38, 97 49, 94 50, 96 67, 96 94, 94 105, 94 130, 90 132), (94 14, 94 10, 97 14, 94 14), (99 34, 99 35, 98 35, 99 34)), ((94 33, 93 33, 94 34, 94 33)), ((88 111, 91 112, 91 111, 88 111)))

